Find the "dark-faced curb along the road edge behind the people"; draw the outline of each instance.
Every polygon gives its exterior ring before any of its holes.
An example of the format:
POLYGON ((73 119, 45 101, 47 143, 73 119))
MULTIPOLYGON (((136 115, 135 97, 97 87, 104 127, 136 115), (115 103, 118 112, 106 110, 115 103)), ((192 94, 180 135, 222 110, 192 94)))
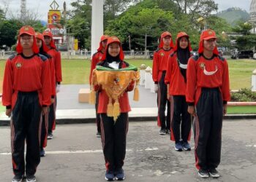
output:
MULTIPOLYGON (((256 114, 228 114, 224 116, 228 122, 236 119, 256 119, 256 114)), ((131 116, 129 122, 157 122, 157 116, 131 116)), ((95 118, 57 119, 56 124, 87 124, 95 123, 95 118)), ((0 120, 0 126, 10 126, 10 120, 0 120)))

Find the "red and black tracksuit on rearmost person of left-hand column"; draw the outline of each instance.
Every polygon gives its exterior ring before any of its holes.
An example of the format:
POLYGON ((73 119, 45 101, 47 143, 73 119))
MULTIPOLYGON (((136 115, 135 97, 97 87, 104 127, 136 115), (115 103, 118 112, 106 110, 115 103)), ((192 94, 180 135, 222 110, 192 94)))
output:
MULTIPOLYGON (((50 55, 53 60, 53 68, 54 68, 54 87, 56 88, 56 84, 61 84, 62 74, 61 74, 61 52, 59 50, 55 50, 50 48, 48 50, 48 55, 50 55)), ((53 73, 53 72, 52 72, 53 73)), ((55 102, 50 105, 50 111, 48 114, 48 132, 52 132, 56 127, 56 106, 57 106, 57 97, 55 95, 55 102)))

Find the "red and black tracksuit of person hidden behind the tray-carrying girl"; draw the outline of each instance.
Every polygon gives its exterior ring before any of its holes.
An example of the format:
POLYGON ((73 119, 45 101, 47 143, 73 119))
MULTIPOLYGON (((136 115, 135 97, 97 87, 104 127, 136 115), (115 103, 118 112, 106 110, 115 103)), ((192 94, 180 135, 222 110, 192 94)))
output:
MULTIPOLYGON (((92 76, 92 71, 94 71, 94 69, 97 66, 97 63, 99 63, 100 61, 102 61, 102 57, 103 57, 103 53, 101 51, 96 52, 91 59, 91 71, 90 71, 90 76, 89 76, 89 83, 91 85, 91 76, 92 76)), ((97 113, 97 109, 98 109, 98 103, 99 103, 99 92, 96 92, 96 102, 95 102, 95 109, 96 109, 96 124, 97 124, 97 131, 100 131, 100 117, 99 114, 97 113)))

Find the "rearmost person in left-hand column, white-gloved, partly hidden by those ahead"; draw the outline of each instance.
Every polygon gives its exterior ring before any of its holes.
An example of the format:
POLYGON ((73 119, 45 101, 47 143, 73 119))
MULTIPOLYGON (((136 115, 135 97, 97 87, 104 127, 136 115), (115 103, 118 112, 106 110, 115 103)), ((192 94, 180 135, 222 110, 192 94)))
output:
MULTIPOLYGON (((53 34, 46 30, 42 33, 45 39, 45 44, 48 48, 47 53, 51 56, 54 68, 55 68, 55 83, 56 92, 59 92, 60 84, 62 81, 61 74, 61 52, 56 49, 56 45, 53 41, 53 34)), ((56 128, 56 107, 57 107, 57 97, 55 97, 55 102, 50 105, 50 112, 48 117, 48 139, 53 138, 53 130, 56 128)))

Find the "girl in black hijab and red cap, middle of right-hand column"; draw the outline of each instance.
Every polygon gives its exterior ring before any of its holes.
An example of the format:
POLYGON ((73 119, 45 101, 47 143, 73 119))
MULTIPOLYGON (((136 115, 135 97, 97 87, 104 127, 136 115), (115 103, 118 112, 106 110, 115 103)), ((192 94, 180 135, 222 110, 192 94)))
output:
POLYGON ((179 32, 176 39, 176 47, 170 55, 165 76, 165 84, 168 86, 168 96, 173 96, 173 119, 171 120, 171 137, 175 141, 176 151, 190 151, 191 117, 187 112, 186 87, 187 87, 187 62, 191 57, 192 48, 189 36, 185 32, 179 32))

